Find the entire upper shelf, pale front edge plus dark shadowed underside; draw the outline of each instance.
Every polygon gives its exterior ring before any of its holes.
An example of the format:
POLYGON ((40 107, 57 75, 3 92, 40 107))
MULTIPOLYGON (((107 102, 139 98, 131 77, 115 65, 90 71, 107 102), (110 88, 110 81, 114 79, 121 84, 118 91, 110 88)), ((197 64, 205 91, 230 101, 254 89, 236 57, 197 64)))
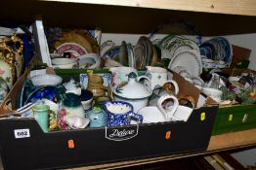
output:
POLYGON ((212 36, 256 32, 254 0, 8 0, 1 5, 10 8, 1 9, 0 21, 32 23, 41 17, 46 26, 98 26, 105 33, 212 36))

